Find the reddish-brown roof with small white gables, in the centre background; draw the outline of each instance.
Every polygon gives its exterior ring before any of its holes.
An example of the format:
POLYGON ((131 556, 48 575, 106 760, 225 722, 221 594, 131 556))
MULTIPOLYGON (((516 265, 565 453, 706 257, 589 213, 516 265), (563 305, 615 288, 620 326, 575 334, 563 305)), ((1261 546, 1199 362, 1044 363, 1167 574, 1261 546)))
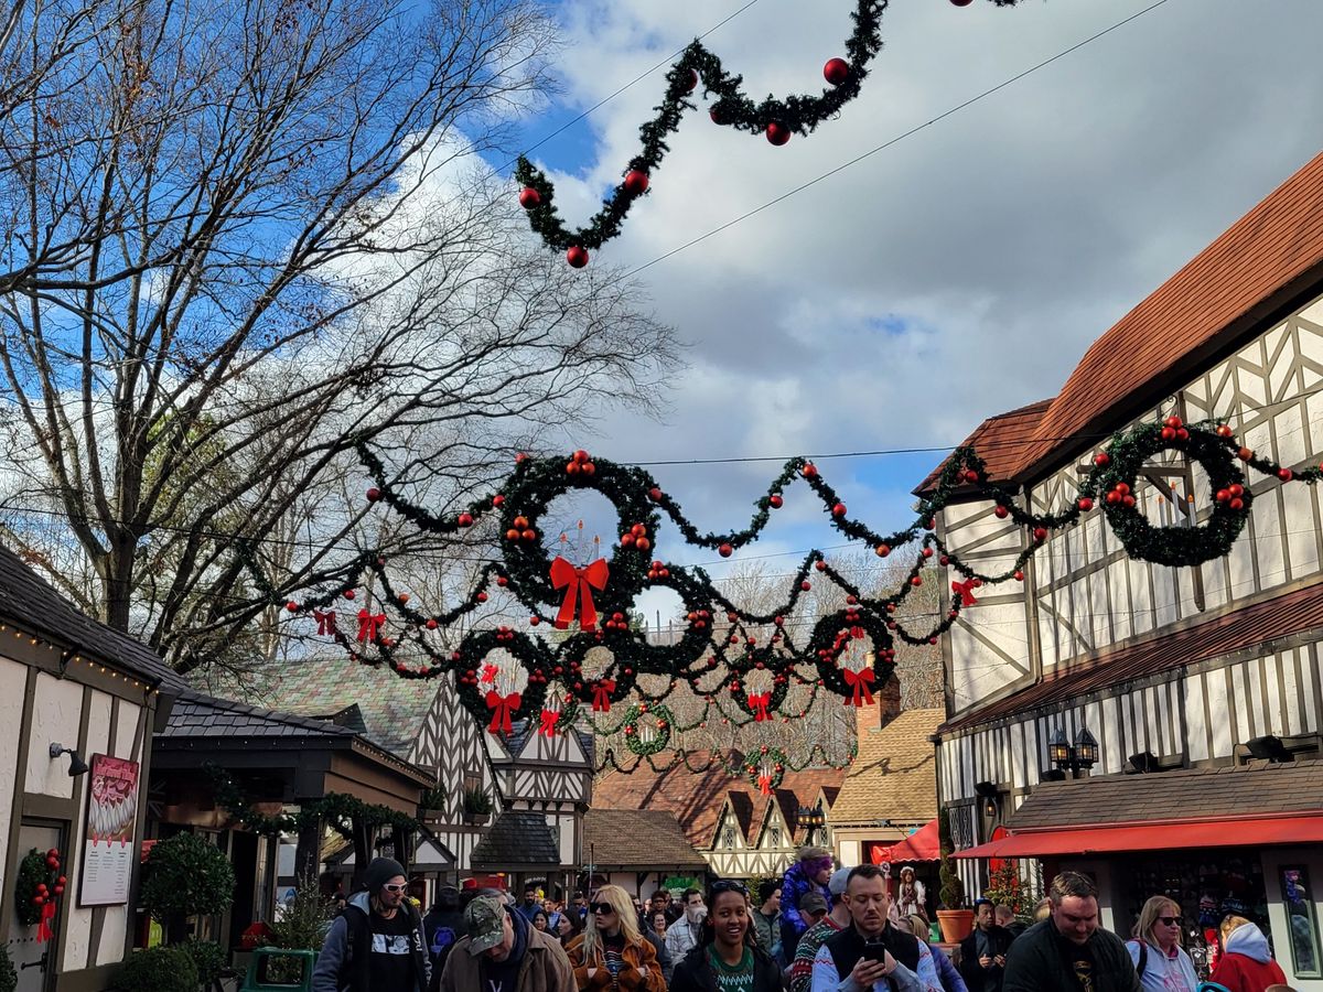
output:
MULTIPOLYGON (((708 761, 705 751, 691 755, 695 765, 708 761)), ((646 765, 630 772, 611 771, 593 786, 593 806, 610 809, 664 809, 679 820, 689 844, 699 850, 709 850, 717 829, 717 817, 732 798, 741 832, 747 839, 762 827, 770 802, 794 807, 818 802, 819 790, 828 795, 840 787, 845 772, 836 768, 804 768, 787 771, 777 790, 783 796, 763 796, 742 775, 732 778, 718 767, 695 774, 684 762, 665 771, 651 771, 646 765), (746 819, 747 817, 747 819, 746 819)), ((789 820, 791 829, 794 819, 789 820)))

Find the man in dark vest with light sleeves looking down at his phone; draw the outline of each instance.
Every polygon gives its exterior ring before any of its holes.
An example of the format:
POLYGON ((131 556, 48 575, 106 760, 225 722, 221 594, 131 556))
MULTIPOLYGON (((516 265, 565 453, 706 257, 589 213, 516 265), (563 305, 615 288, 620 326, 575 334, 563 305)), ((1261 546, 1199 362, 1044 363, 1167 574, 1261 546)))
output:
POLYGON ((851 926, 814 958, 812 992, 942 992, 927 944, 890 925, 890 893, 877 865, 851 869, 851 926))

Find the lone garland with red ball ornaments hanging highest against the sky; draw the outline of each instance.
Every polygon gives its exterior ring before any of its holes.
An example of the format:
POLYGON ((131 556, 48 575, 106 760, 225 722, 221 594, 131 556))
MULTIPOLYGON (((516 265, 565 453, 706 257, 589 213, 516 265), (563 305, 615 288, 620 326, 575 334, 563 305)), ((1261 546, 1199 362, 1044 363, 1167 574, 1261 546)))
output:
MULTIPOLYGON (((954 0, 963 7, 968 0, 954 0)), ((998 7, 1013 7, 1020 0, 991 0, 998 7)), ((669 151, 667 138, 680 130, 684 112, 696 110, 692 95, 703 85, 712 101, 709 116, 714 124, 766 135, 774 145, 786 144, 791 135, 811 134, 824 120, 835 118, 855 99, 868 78, 869 65, 882 48, 881 20, 888 0, 859 0, 851 19, 855 28, 845 40, 844 58, 823 66, 827 87, 819 94, 796 94, 754 101, 742 89, 744 78, 726 71, 721 60, 701 41, 692 42, 667 70, 665 94, 651 120, 639 127, 639 151, 630 159, 622 180, 603 201, 602 209, 577 230, 569 230, 556 210, 556 188, 541 169, 519 156, 515 179, 523 186, 520 204, 528 212, 532 229, 550 247, 566 253, 576 269, 587 265, 587 253, 620 233, 630 208, 648 192, 652 175, 669 151)))

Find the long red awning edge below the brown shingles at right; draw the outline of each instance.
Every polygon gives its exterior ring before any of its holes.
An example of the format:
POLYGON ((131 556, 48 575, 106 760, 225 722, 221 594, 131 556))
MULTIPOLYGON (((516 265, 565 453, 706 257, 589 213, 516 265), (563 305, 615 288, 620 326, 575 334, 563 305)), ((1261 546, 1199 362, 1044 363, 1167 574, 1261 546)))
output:
POLYGON ((1323 843, 1323 816, 1256 816, 1023 831, 976 848, 957 850, 955 857, 1053 857, 1123 850, 1320 843, 1323 843))

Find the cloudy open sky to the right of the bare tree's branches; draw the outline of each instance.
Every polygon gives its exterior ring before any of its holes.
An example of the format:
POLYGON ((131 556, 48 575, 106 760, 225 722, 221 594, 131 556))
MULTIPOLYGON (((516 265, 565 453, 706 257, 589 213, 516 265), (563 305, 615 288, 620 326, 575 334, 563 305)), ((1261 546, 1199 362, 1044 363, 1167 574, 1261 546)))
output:
MULTIPOLYGON (((562 91, 523 122, 524 147, 745 3, 556 4, 562 91)), ((755 97, 816 91, 852 7, 755 0, 705 44, 755 97)), ((941 454, 822 455, 950 447, 1054 394, 1095 337, 1323 147, 1319 0, 896 0, 882 34, 861 97, 810 138, 775 148, 687 115, 623 237, 594 253, 632 271, 1061 56, 638 272, 687 344, 669 414, 613 415, 565 443, 644 464, 775 459, 654 468, 701 528, 741 526, 796 454, 819 456, 852 515, 909 522, 941 454)), ((663 71, 533 152, 566 224, 618 181, 663 71)), ((787 493, 745 558, 785 554, 789 570, 789 553, 840 544, 806 496, 787 493)))

